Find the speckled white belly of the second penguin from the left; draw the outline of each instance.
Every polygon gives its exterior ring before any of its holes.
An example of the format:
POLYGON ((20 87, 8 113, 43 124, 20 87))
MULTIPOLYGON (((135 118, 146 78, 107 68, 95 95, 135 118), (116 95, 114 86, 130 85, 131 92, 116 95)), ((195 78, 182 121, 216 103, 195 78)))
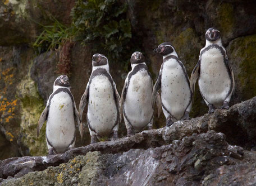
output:
POLYGON ((90 83, 87 117, 98 135, 109 135, 115 126, 117 107, 112 84, 105 75, 97 75, 90 83))

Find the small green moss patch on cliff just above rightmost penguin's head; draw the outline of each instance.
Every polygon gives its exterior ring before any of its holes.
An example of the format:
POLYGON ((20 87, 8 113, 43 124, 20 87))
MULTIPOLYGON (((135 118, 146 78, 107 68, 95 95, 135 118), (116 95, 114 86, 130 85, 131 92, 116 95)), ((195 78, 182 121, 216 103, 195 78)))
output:
POLYGON ((230 3, 222 3, 217 8, 218 20, 220 20, 221 30, 224 33, 232 32, 234 28, 234 8, 230 3))

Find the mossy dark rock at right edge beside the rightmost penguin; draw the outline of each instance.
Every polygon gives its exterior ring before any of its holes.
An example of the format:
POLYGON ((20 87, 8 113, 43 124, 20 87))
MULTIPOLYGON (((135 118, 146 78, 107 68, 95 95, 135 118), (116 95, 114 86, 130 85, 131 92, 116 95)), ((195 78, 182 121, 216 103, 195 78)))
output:
POLYGON ((241 92, 241 99, 256 96, 256 35, 239 37, 231 42, 228 49, 235 69, 236 89, 241 92))

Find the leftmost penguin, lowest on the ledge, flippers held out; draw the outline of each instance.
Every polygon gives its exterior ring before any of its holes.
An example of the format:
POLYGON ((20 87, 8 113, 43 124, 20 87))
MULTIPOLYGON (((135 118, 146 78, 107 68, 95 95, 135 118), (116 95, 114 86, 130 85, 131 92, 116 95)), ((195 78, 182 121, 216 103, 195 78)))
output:
POLYGON ((37 136, 46 120, 46 142, 49 155, 64 153, 74 148, 75 121, 83 139, 83 126, 79 121, 79 113, 70 91, 67 75, 60 75, 54 81, 53 93, 38 121, 37 136))

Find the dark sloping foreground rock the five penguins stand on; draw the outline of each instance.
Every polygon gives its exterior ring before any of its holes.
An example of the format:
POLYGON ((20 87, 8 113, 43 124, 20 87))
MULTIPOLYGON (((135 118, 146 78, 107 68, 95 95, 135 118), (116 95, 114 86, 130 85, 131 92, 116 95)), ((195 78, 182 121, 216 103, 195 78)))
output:
MULTIPOLYGON (((4 184, 10 185, 27 183, 32 177, 34 184, 37 178, 41 179, 44 176, 48 178, 45 174, 49 172, 52 177, 57 178, 56 174, 63 176, 68 171, 58 168, 56 172, 54 168, 49 168, 54 170, 28 173, 42 171, 49 166, 72 168, 73 165, 65 163, 70 163, 79 155, 87 156, 89 152, 97 153, 97 156, 92 155, 94 158, 99 156, 97 164, 90 162, 94 160, 86 160, 86 165, 89 163, 94 166, 94 168, 90 167, 94 174, 89 174, 91 171, 83 165, 77 165, 78 176, 75 173, 76 177, 73 178, 74 175, 71 174, 72 178, 70 178, 68 174, 65 177, 68 181, 63 182, 64 185, 68 185, 72 180, 74 183, 85 184, 86 182, 88 185, 115 183, 120 185, 207 185, 212 182, 219 183, 218 178, 221 178, 223 183, 223 179, 227 179, 225 184, 228 185, 234 180, 228 179, 232 173, 236 173, 237 180, 242 183, 241 173, 247 171, 247 168, 253 169, 251 166, 255 165, 256 154, 255 151, 244 150, 234 145, 239 142, 234 140, 241 139, 239 135, 243 135, 244 141, 240 140, 241 145, 247 144, 248 149, 255 146, 256 136, 252 131, 255 130, 256 125, 255 108, 256 97, 236 104, 228 110, 218 109, 211 115, 190 121, 175 122, 170 127, 143 131, 132 137, 77 147, 65 154, 6 159, 0 163, 0 178, 3 179, 4 184), (232 129, 235 126, 240 128, 241 133, 234 133, 237 131, 237 128, 232 129), (237 170, 244 171, 236 172, 236 166, 237 170), (82 170, 81 173, 80 170, 82 170), (83 170, 86 176, 80 176, 83 170), (33 174, 36 175, 35 179, 33 174), (21 178, 16 179, 19 177, 21 178), (83 179, 84 181, 81 181, 83 179)), ((250 182, 250 175, 253 174, 250 173, 248 178, 243 179, 250 182)))

